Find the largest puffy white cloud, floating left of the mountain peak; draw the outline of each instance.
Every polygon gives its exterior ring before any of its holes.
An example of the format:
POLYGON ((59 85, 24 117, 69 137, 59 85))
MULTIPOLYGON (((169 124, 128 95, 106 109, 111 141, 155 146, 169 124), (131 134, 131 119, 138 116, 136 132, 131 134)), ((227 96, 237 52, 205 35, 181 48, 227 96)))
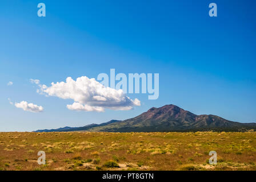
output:
POLYGON ((73 80, 71 77, 66 78, 66 82, 54 82, 51 86, 38 85, 38 93, 45 93, 46 96, 56 96, 62 99, 71 99, 72 105, 67 105, 70 110, 98 111, 105 109, 112 110, 130 110, 133 106, 141 105, 140 101, 135 98, 131 100, 123 93, 123 90, 115 90, 100 84, 95 78, 86 76, 78 77, 73 80))

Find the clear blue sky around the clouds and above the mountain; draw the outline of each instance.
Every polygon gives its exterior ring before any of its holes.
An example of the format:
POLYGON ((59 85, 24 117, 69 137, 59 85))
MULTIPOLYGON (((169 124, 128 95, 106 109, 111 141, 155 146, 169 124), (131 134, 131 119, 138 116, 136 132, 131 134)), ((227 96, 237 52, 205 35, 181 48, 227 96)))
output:
POLYGON ((174 104, 195 114, 256 122, 254 1, 14 1, 0 3, 0 131, 127 119, 174 104), (46 17, 37 5, 46 5, 46 17), (209 16, 215 2, 218 16, 209 16), (128 94, 133 110, 75 111, 36 92, 99 73, 159 73, 159 98, 128 94), (13 85, 7 86, 9 81, 13 85), (27 101, 40 113, 9 104, 27 101))

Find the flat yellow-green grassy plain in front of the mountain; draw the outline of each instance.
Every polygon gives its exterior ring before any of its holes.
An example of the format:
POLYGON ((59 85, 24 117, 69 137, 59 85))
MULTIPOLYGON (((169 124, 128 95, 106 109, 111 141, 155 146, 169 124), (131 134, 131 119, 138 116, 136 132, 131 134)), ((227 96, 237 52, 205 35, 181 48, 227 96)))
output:
POLYGON ((256 170, 255 163, 255 132, 0 133, 0 170, 256 170))

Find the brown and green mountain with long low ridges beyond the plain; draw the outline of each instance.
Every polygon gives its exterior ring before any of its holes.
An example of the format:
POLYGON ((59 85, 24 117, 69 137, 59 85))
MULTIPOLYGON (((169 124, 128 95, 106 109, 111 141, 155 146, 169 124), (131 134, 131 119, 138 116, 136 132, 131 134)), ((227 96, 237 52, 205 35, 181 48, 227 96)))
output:
POLYGON ((152 107, 137 117, 125 121, 111 120, 101 125, 64 127, 45 131, 107 131, 107 132, 154 132, 154 131, 247 131, 256 130, 256 123, 233 122, 217 115, 196 115, 175 105, 152 107))

